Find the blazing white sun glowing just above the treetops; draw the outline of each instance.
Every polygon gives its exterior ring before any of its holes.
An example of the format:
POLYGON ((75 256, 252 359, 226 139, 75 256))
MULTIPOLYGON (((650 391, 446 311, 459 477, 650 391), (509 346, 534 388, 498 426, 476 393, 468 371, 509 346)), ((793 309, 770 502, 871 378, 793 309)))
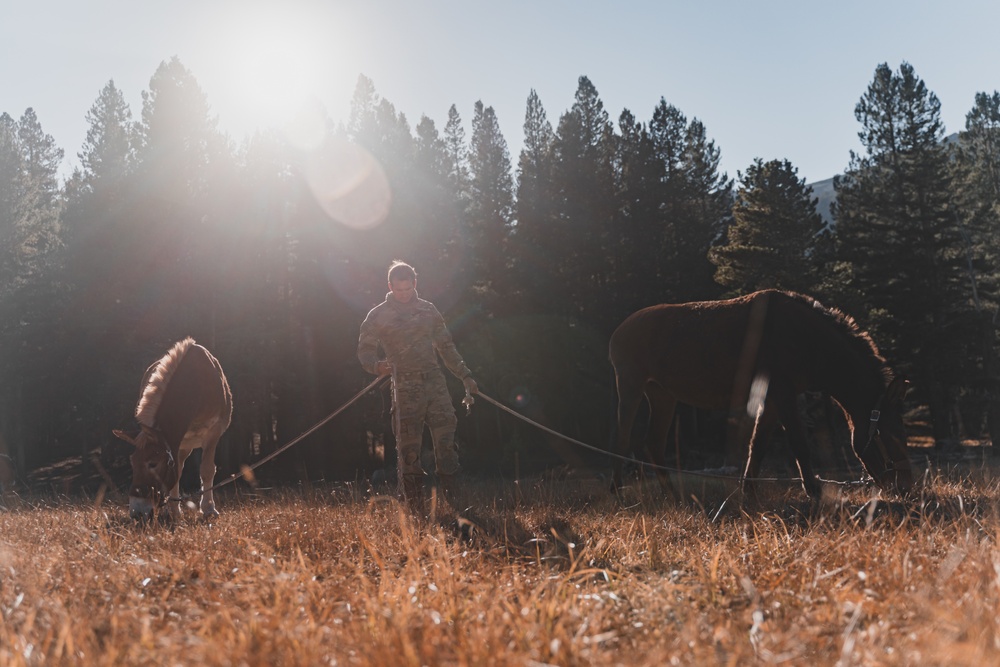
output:
POLYGON ((283 130, 300 141, 322 131, 317 108, 337 83, 331 72, 340 59, 311 19, 275 3, 222 24, 216 53, 224 99, 216 101, 223 123, 242 133, 283 130))

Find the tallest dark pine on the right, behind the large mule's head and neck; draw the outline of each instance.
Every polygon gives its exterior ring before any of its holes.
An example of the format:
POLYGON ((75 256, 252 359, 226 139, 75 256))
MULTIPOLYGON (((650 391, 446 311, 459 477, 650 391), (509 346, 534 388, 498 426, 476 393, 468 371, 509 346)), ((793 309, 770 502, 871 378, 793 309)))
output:
POLYGON ((883 352, 912 376, 929 404, 934 434, 950 435, 960 384, 961 326, 969 312, 962 240, 950 209, 953 191, 942 143, 941 104, 903 63, 887 64, 855 107, 864 155, 851 153, 835 179, 838 258, 846 276, 841 303, 852 302, 883 352))

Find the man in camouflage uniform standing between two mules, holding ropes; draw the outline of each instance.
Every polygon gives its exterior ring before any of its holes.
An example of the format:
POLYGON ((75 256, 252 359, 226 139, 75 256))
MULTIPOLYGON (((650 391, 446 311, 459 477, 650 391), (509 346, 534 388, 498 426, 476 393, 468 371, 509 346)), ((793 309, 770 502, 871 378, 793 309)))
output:
POLYGON ((445 496, 455 506, 455 476, 459 472, 455 444, 455 407, 438 364, 462 380, 465 391, 478 393, 472 372, 455 349, 441 313, 417 296, 417 273, 396 260, 389 267, 389 293, 361 324, 358 360, 378 376, 392 375, 392 428, 396 435, 399 487, 410 510, 423 515, 423 477, 420 444, 424 424, 434 441, 434 459, 445 496), (385 358, 379 359, 381 345, 385 358))

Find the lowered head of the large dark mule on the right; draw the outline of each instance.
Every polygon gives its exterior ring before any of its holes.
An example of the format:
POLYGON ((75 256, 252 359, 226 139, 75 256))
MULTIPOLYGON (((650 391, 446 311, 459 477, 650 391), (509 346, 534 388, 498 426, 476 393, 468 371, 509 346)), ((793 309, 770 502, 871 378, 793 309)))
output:
POLYGON ((854 451, 883 489, 906 493, 913 488, 913 467, 906 450, 903 397, 909 382, 895 378, 872 410, 870 420, 854 425, 854 451))

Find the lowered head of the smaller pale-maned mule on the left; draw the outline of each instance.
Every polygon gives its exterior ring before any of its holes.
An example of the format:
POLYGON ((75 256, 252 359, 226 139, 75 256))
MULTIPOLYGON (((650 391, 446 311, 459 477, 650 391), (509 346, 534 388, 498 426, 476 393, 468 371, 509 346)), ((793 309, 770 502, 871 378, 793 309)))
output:
POLYGON ((135 437, 117 430, 114 434, 134 448, 132 483, 128 492, 129 515, 133 519, 152 519, 180 475, 170 445, 163 434, 147 426, 143 426, 135 437))

